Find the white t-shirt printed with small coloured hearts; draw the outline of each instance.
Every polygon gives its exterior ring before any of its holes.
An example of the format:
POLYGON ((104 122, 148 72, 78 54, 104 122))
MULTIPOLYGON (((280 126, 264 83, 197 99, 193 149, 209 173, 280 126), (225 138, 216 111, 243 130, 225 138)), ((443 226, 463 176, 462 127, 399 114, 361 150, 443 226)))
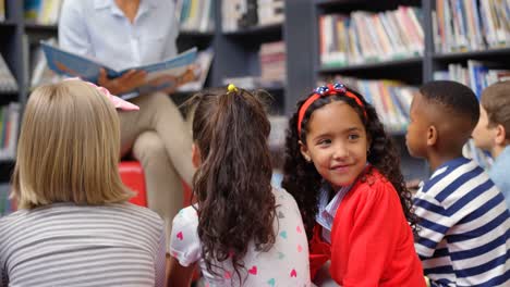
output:
MULTIPOLYGON (((276 242, 268 251, 257 251, 253 242, 244 258, 246 271, 242 286, 311 286, 308 244, 300 211, 294 198, 283 189, 272 189, 277 204, 274 228, 276 242)), ((195 262, 202 270, 205 286, 240 286, 230 261, 218 263, 218 274, 207 272, 202 259, 201 241, 197 234, 198 216, 195 209, 187 207, 173 219, 170 252, 181 265, 195 262)), ((216 269, 215 269, 216 271, 216 269)))

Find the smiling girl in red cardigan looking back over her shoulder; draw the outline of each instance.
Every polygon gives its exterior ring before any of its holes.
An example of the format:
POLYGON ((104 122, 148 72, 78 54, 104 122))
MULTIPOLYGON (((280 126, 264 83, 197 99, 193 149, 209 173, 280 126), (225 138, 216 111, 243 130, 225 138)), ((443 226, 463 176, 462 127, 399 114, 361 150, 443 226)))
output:
POLYGON ((298 103, 282 186, 312 238, 312 276, 330 261, 343 287, 425 286, 397 151, 360 93, 335 84, 298 103))

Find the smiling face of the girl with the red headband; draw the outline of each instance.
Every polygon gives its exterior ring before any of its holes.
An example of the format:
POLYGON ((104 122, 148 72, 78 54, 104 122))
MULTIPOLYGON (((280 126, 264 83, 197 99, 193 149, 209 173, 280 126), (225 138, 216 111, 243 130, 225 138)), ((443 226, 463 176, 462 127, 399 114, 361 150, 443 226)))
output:
POLYGON ((312 160, 332 188, 352 184, 366 165, 369 139, 360 115, 349 104, 335 101, 315 110, 301 153, 312 160))

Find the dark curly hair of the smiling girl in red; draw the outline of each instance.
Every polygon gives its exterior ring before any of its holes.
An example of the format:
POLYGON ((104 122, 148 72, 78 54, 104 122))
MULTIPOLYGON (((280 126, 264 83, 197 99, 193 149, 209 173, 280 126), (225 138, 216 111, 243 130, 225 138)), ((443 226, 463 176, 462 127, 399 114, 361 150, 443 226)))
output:
MULTIPOLYGON (((306 99, 298 102, 298 111, 290 118, 289 129, 287 130, 282 187, 286 188, 287 191, 289 191, 296 200, 303 217, 306 234, 308 235, 308 238, 312 238, 313 228, 315 226, 315 216, 318 212, 318 196, 323 178, 315 170, 315 166, 312 163, 306 162, 304 158, 301 157, 299 140, 305 142, 306 133, 308 132, 308 120, 315 110, 333 101, 343 101, 356 111, 365 126, 368 138, 372 140, 369 147, 371 152, 367 157, 367 161, 393 185, 400 198, 400 203, 405 219, 410 223, 413 233, 416 234, 416 216, 412 211, 411 192, 405 187, 403 176, 400 171, 400 158, 397 149, 394 148, 394 144, 386 134, 374 107, 367 103, 359 92, 350 88, 348 88, 348 90, 360 98, 365 107, 364 109, 361 108, 353 99, 345 96, 321 97, 312 103, 312 105, 306 110, 302 122, 301 135, 298 135, 298 113, 306 99), (364 112, 366 112, 366 117, 364 112)), ((371 171, 368 171, 368 173, 369 172, 371 171)), ((364 180, 364 177, 360 178, 364 180)))

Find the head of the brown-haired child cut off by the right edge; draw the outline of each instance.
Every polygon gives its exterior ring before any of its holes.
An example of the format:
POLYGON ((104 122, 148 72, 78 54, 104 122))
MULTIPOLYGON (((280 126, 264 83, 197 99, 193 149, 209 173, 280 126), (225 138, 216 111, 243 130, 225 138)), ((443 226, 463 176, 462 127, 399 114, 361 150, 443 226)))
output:
POLYGON ((472 136, 478 148, 494 155, 510 144, 510 82, 496 83, 482 92, 479 121, 472 136))

